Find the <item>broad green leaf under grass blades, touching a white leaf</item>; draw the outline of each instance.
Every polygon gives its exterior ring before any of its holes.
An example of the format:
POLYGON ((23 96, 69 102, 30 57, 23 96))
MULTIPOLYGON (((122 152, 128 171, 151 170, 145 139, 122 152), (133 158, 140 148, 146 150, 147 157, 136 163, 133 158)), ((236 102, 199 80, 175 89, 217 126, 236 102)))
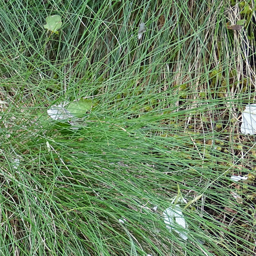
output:
POLYGON ((75 117, 86 116, 87 111, 92 108, 93 101, 91 99, 79 99, 69 104, 67 110, 75 117))

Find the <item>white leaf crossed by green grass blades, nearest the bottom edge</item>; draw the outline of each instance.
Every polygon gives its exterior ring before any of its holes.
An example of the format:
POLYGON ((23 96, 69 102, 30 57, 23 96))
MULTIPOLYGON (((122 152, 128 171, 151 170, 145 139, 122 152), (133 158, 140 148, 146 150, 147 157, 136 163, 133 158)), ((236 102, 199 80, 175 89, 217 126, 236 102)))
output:
POLYGON ((163 212, 164 223, 171 232, 174 230, 183 240, 187 240, 186 221, 178 204, 169 206, 163 212))

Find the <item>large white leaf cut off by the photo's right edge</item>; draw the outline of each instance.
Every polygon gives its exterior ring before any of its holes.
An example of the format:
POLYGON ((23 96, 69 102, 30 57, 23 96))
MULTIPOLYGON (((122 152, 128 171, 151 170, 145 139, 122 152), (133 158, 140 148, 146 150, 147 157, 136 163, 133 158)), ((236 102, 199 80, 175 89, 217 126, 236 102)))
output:
POLYGON ((255 134, 256 133, 256 105, 247 105, 242 112, 242 134, 255 134))

